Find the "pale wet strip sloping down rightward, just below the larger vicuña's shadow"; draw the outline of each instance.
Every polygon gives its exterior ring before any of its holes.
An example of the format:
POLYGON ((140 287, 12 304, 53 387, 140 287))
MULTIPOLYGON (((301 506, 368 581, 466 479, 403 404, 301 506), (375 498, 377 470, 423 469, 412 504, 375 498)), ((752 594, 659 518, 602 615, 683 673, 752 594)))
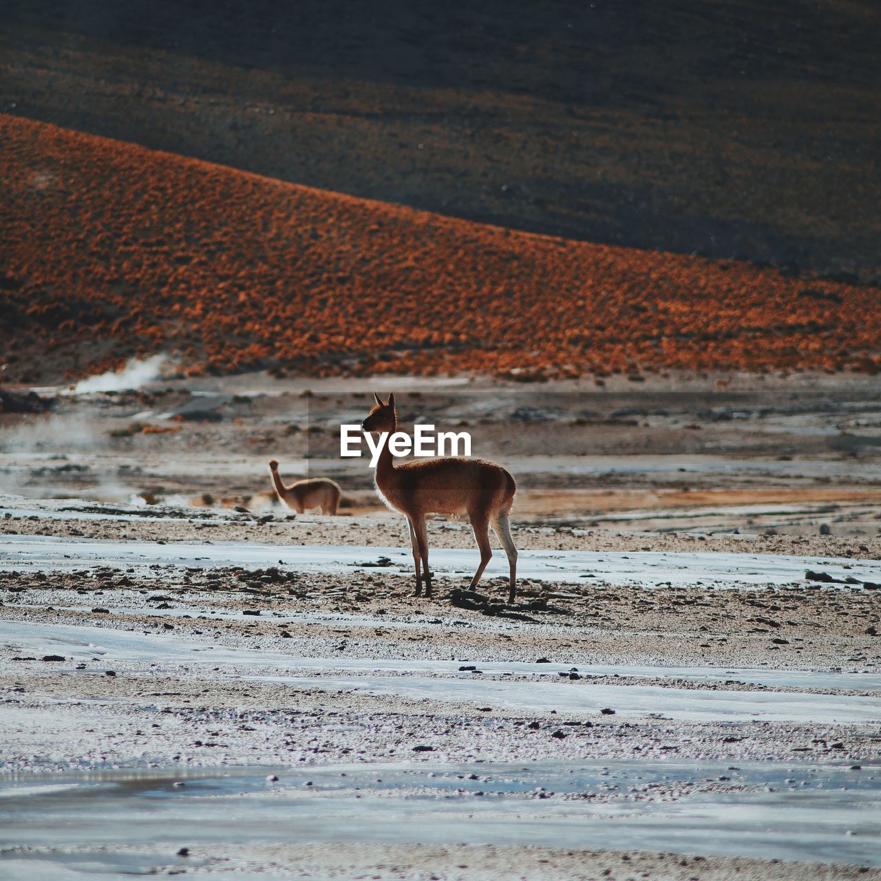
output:
MULTIPOLYGON (((592 684, 589 679, 577 682, 548 681, 540 687, 532 681, 509 681, 506 672, 544 672, 544 664, 496 663, 481 664, 497 670, 501 678, 480 678, 470 671, 460 671, 455 663, 374 662, 368 659, 332 658, 303 659, 284 653, 256 652, 245 649, 213 648, 209 643, 169 640, 150 634, 99 631, 99 628, 16 624, 0 622, 0 641, 19 651, 34 653, 65 650, 65 656, 78 659, 99 658, 118 669, 120 663, 199 663, 201 675, 211 678, 233 675, 255 682, 274 683, 296 690, 316 685, 315 673, 321 673, 322 688, 333 691, 365 692, 412 700, 439 700, 489 706, 497 710, 517 712, 557 712, 567 714, 599 714, 603 708, 614 708, 627 718, 654 717, 680 722, 817 722, 859 724, 881 722, 881 702, 877 696, 818 694, 809 692, 730 691, 724 687, 712 690, 675 688, 663 685, 592 684), (211 672, 208 669, 211 668, 211 672), (455 670, 454 670, 455 668, 455 670), (287 670, 291 670, 288 673, 287 670), (297 675, 303 671, 312 676, 297 675), (349 671, 350 675, 341 675, 349 671), (432 676, 426 675, 429 671, 432 676), (351 675, 357 672, 358 675, 351 675), (419 675, 421 674, 421 675, 419 675)), ((618 671, 618 668, 607 668, 618 671)), ((642 668, 643 670, 652 668, 642 668)), ((663 668, 655 668, 663 670, 663 668)), ((557 670, 552 670, 557 672, 557 670)), ((585 672, 589 671, 586 666, 585 672)), ((620 669, 625 677, 640 675, 627 667, 620 669)), ((79 675, 95 675, 80 673, 79 675)), ((722 671, 722 678, 738 678, 737 670, 722 671)), ((707 670, 701 670, 707 676, 707 670)), ((751 671, 752 678, 762 678, 762 671, 751 671)), ((749 676, 748 673, 744 674, 749 676)), ((659 676, 664 677, 661 672, 659 676)), ((667 674, 669 677, 669 674, 667 674)), ((818 674, 828 682, 830 674, 818 674)), ((778 684, 786 673, 776 671, 778 684)), ((811 682, 809 671, 798 671, 792 681, 811 682)), ((863 688, 878 685, 877 676, 863 679, 851 674, 848 685, 864 683, 863 688)), ((834 680, 833 680, 834 681, 834 680)), ((816 686, 815 686, 816 687, 816 686)))

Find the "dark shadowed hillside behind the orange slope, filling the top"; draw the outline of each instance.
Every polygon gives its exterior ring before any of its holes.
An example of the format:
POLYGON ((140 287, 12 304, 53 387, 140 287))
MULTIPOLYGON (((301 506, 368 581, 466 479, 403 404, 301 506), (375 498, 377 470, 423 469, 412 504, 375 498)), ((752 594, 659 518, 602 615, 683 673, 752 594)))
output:
POLYGON ((7 0, 0 111, 568 238, 881 277, 871 0, 7 0))

